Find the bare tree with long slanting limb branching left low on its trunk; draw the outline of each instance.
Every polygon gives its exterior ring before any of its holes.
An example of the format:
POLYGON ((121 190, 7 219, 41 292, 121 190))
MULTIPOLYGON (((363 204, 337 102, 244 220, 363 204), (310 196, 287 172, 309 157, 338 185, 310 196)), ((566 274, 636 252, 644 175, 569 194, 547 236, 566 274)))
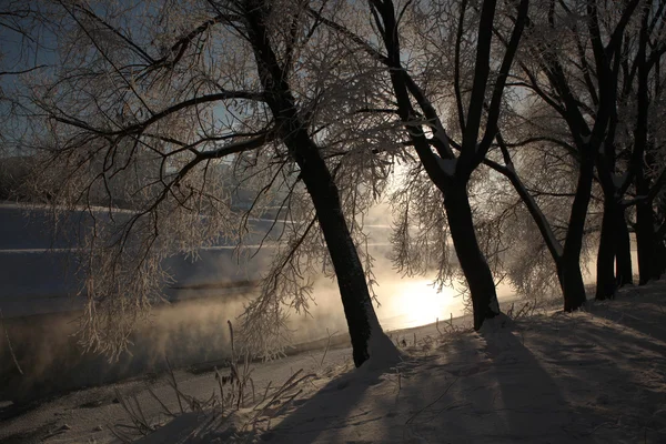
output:
MULTIPOLYGON (((497 164, 493 168, 509 179, 533 215, 555 261, 558 280, 564 293, 565 311, 579 307, 586 299, 581 273, 581 253, 593 191, 594 168, 595 164, 598 167, 603 163, 599 150, 603 147, 613 144, 613 122, 616 121, 614 107, 617 75, 613 67, 616 67, 617 62, 612 67, 610 59, 614 53, 619 51, 619 37, 617 36, 622 36, 624 32, 637 4, 638 1, 632 1, 624 6, 620 18, 614 24, 609 42, 605 47, 601 40, 596 3, 594 1, 576 3, 576 8, 571 8, 566 2, 557 3, 564 10, 565 16, 561 21, 568 23, 568 27, 563 27, 559 23, 558 10, 554 1, 548 2, 547 8, 544 8, 539 11, 541 13, 534 14, 528 20, 529 32, 527 33, 525 48, 531 51, 531 56, 523 54, 518 64, 522 78, 518 78, 519 80, 516 80, 514 84, 526 88, 527 91, 552 107, 566 123, 569 132, 568 138, 571 138, 569 142, 552 138, 549 134, 542 134, 533 141, 539 141, 539 138, 542 140, 544 138, 545 140, 549 139, 551 142, 554 142, 553 147, 564 148, 578 164, 578 179, 571 203, 564 244, 557 241, 547 219, 518 178, 511 159, 509 144, 503 140, 502 134, 497 137, 505 169, 497 164), (578 13, 581 6, 586 10, 583 16, 578 13), (597 75, 595 84, 589 79, 589 65, 586 64, 585 60, 578 64, 567 62, 569 48, 577 49, 578 54, 582 53, 581 51, 584 53, 582 33, 578 29, 578 22, 583 20, 586 22, 588 30, 588 33, 585 34, 586 39, 591 42, 595 53, 595 72, 597 75), (576 71, 577 67, 582 67, 584 79, 578 77, 581 71, 576 71), (585 85, 592 89, 582 90, 579 88, 582 82, 586 82, 585 85), (579 94, 581 92, 583 93, 579 94), (581 97, 586 97, 585 94, 594 97, 596 107, 588 107, 581 99, 581 97)), ((617 57, 615 60, 617 60, 617 57)), ((513 145, 518 147, 524 144, 525 141, 513 143, 513 145)), ((606 203, 608 203, 607 199, 606 203)), ((606 229, 609 224, 616 226, 618 220, 619 215, 617 213, 608 212, 606 229)), ((607 243, 602 244, 607 245, 607 243)))

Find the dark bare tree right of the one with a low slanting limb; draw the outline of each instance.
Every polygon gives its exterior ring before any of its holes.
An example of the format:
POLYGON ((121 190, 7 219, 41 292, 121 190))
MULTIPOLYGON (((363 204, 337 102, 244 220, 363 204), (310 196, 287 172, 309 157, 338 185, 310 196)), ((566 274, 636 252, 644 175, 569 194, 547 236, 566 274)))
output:
MULTIPOLYGON (((646 119, 649 105, 640 92, 639 72, 645 75, 647 67, 640 61, 645 59, 646 46, 640 41, 646 41, 648 33, 655 33, 657 20, 653 14, 660 13, 663 7, 649 1, 628 1, 622 6, 599 6, 596 1, 559 2, 557 6, 551 2, 547 13, 551 28, 558 28, 559 40, 569 42, 562 44, 561 59, 565 60, 568 51, 572 60, 563 67, 564 75, 552 75, 551 83, 555 87, 554 81, 567 82, 577 105, 569 101, 569 111, 565 112, 571 113, 577 107, 579 112, 571 114, 578 114, 575 118, 578 125, 584 128, 586 122, 594 122, 599 129, 596 147, 588 150, 597 171, 594 179, 604 195, 596 266, 596 297, 599 300, 612 297, 617 285, 633 280, 625 215, 627 202, 623 200, 630 190, 633 178, 640 175, 644 163, 645 131, 642 129, 645 125, 640 122, 646 119)), ((654 46, 657 49, 650 57, 656 59, 659 57, 657 40, 654 46)), ((569 123, 572 131, 575 124, 569 123)), ((642 193, 647 200, 647 190, 642 193)))

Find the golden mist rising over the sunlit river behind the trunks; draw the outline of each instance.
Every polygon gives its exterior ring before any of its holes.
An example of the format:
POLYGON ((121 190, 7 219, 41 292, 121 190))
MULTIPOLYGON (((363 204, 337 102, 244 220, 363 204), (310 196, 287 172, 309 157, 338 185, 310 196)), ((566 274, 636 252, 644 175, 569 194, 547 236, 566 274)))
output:
MULTIPOLYGON (((458 289, 446 286, 437 292, 432 285, 434 276, 404 278, 393 269, 387 259, 387 210, 380 210, 366 222, 373 235, 371 254, 376 260, 373 271, 379 283, 374 289, 379 305, 375 304, 375 310, 384 330, 408 329, 464 314, 458 289)), ((26 232, 18 209, 4 209, 3 214, 7 223, 0 238, 14 243, 3 245, 4 253, 0 256, 4 270, 10 272, 3 282, 0 309, 3 309, 3 325, 24 375, 18 373, 6 337, 0 337, 0 401, 158 373, 165 370, 167 357, 180 367, 223 362, 230 352, 226 322, 230 320, 239 326, 238 316, 243 305, 256 296, 256 290, 248 284, 260 278, 270 259, 270 251, 265 250, 239 262, 233 259, 232 249, 224 246, 202 251, 194 262, 174 258, 170 266, 178 283, 167 291, 172 303, 155 307, 133 334, 131 354, 110 363, 94 352, 83 353, 74 336, 79 313, 71 311, 75 304, 65 294, 71 293, 72 286, 63 279, 74 264, 67 258, 59 259, 61 253, 36 252, 34 249, 48 246, 48 239, 26 232)), ((636 272, 635 251, 632 259, 636 272)), ((594 283, 595 266, 594 260, 587 264, 587 283, 594 283)), ((503 300, 514 296, 513 290, 504 283, 498 285, 497 293, 501 305, 503 300)), ((315 279, 309 314, 292 313, 289 330, 294 344, 346 333, 334 279, 315 279)), ((0 334, 4 336, 3 332, 0 334)))

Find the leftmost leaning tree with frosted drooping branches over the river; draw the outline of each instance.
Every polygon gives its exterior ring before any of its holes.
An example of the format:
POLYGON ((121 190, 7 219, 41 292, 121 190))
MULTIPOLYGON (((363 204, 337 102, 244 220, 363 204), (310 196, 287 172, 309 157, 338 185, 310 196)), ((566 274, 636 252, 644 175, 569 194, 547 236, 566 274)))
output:
MULTIPOLYGON (((250 219, 280 192, 286 196, 279 214, 287 221, 262 233, 261 243, 273 241, 278 253, 259 299, 246 307, 248 340, 273 352, 284 303, 306 310, 306 274, 330 261, 355 364, 377 351, 397 357, 374 313, 370 270, 354 241, 362 230, 355 212, 372 199, 372 188, 351 186, 351 174, 342 174, 361 164, 380 175, 373 179, 381 188, 386 167, 329 143, 339 135, 331 130, 339 115, 320 100, 343 83, 331 85, 335 78, 312 71, 340 60, 344 48, 322 46, 320 23, 302 3, 290 6, 50 4, 61 17, 61 58, 51 79, 32 85, 38 118, 49 129, 38 139, 48 159, 39 185, 58 184, 56 205, 84 205, 90 214, 82 317, 90 347, 118 354, 139 316, 161 299, 164 258, 221 239, 242 245, 250 219), (214 174, 222 161, 256 190, 246 213, 232 208, 214 174), (113 210, 114 189, 138 210, 113 210), (94 194, 107 196, 103 211, 92 206, 94 194), (322 244, 327 254, 316 248, 322 244)), ((363 87, 351 82, 336 100, 363 87)))

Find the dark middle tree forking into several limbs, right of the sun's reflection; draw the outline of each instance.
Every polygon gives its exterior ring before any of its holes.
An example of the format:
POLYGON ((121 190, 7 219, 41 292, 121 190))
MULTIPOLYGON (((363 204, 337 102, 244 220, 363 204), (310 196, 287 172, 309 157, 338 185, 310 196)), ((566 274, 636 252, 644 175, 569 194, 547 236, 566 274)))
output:
MULTIPOLYGON (((477 31, 472 39, 476 46, 476 58, 472 63, 474 68, 471 72, 471 90, 466 98, 463 98, 461 92, 460 71, 462 64, 470 63, 470 61, 463 62, 460 52, 456 52, 455 56, 453 69, 455 71, 457 108, 454 112, 457 112, 462 137, 458 142, 454 141, 445 130, 443 119, 437 112, 437 97, 428 95, 428 91, 415 80, 416 75, 412 74, 412 71, 416 71, 421 79, 428 80, 431 72, 427 59, 432 54, 425 47, 412 47, 408 50, 416 54, 424 54, 421 58, 423 60, 403 62, 403 52, 406 49, 402 47, 404 41, 402 36, 405 31, 404 27, 401 28, 401 21, 411 14, 413 16, 413 26, 423 24, 416 24, 417 20, 426 20, 433 34, 437 36, 437 31, 446 33, 448 23, 445 22, 444 6, 415 3, 413 11, 410 12, 410 2, 396 10, 392 0, 371 1, 370 9, 376 39, 383 43, 383 51, 372 46, 373 37, 362 38, 352 32, 344 23, 324 19, 317 11, 311 10, 311 13, 337 30, 341 36, 359 44, 374 60, 381 61, 386 67, 396 104, 392 112, 397 114, 403 125, 402 139, 414 148, 427 178, 443 198, 447 229, 472 297, 475 329, 480 329, 486 319, 496 316, 500 307, 491 268, 478 245, 467 186, 472 174, 484 161, 497 132, 503 92, 521 41, 528 7, 527 1, 515 4, 517 20, 512 27, 513 29, 508 31, 509 44, 503 54, 492 56, 492 29, 496 18, 496 1, 488 0, 481 6, 476 23, 477 31), (492 62, 497 63, 496 71, 491 70, 492 62), (487 94, 490 94, 490 103, 486 103, 487 94), (454 148, 460 154, 454 152, 454 148)), ((456 2, 452 7, 458 17, 457 50, 460 50, 464 27, 468 26, 465 16, 472 7, 467 1, 456 2)), ((435 48, 442 48, 443 41, 435 42, 435 38, 418 36, 417 32, 416 34, 416 41, 422 40, 432 43, 435 48)), ((408 203, 406 208, 408 208, 408 203)), ((406 214, 407 210, 404 212, 406 214)), ((394 241, 398 246, 407 242, 405 236, 408 235, 408 228, 406 225, 408 225, 408 218, 403 218, 401 226, 394 235, 394 241)), ((401 258, 400 253, 398 258, 401 258)), ((442 254, 441 258, 446 260, 446 254, 442 254)), ((398 259, 398 265, 400 261, 398 259)), ((442 266, 440 264, 441 269, 442 266)))

